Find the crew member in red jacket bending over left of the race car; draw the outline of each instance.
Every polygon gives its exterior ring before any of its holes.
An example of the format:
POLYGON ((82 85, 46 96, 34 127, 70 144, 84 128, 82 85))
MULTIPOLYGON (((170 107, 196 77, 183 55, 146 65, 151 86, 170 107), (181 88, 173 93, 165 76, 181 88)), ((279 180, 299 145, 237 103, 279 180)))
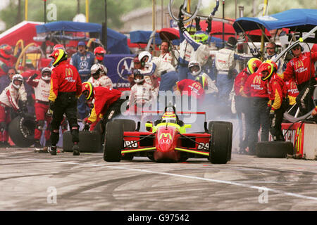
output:
MULTIPOLYGON (((106 123, 114 117, 120 115, 122 105, 126 101, 125 98, 121 99, 121 91, 111 89, 104 86, 92 86, 90 82, 82 83, 82 94, 85 96, 86 101, 91 103, 94 100, 94 108, 88 118, 85 118, 84 130, 89 130, 89 127, 94 123, 97 118, 102 120, 102 130, 104 131, 106 123)), ((126 107, 125 107, 126 109, 126 107)))

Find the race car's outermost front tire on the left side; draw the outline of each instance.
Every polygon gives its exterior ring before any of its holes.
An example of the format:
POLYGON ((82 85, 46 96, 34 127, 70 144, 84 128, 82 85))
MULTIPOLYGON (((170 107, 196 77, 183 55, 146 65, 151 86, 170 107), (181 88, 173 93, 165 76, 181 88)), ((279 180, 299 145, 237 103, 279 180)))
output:
POLYGON ((106 124, 104 137, 104 160, 106 162, 120 162, 123 149, 123 123, 109 121, 106 124))

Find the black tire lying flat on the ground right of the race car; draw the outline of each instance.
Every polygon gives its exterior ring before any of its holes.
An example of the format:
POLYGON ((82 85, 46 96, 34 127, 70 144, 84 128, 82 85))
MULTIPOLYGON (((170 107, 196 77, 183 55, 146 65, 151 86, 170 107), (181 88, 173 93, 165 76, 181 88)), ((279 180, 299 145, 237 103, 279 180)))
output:
POLYGON ((293 155, 294 146, 290 141, 261 141, 256 143, 256 156, 259 158, 286 158, 293 155))

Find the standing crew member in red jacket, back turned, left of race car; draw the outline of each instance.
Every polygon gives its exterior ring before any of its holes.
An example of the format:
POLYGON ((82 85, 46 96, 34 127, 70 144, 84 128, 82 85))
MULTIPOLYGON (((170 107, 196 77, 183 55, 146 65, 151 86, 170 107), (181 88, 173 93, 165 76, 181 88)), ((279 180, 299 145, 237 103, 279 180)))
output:
POLYGON ((79 126, 77 124, 77 98, 82 93, 80 75, 76 68, 68 63, 67 53, 63 49, 57 49, 49 57, 54 58, 49 91, 49 109, 53 111, 50 153, 56 155, 59 127, 65 113, 72 134, 73 155, 80 155, 79 126))

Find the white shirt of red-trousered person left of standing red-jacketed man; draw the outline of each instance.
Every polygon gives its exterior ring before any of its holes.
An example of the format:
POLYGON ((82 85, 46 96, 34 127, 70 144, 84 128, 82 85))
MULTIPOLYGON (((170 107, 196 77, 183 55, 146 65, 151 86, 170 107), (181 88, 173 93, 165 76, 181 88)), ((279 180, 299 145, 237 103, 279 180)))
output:
POLYGON ((49 90, 51 84, 44 82, 43 79, 27 79, 27 84, 34 89, 35 100, 49 102, 49 90))

